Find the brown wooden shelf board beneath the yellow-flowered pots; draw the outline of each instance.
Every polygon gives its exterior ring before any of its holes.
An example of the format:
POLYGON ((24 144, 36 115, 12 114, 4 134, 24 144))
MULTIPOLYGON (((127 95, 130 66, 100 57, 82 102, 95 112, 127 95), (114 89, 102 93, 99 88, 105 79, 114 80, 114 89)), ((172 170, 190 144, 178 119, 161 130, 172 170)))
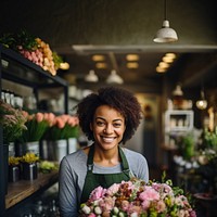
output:
POLYGON ((5 196, 5 208, 10 208, 23 201, 27 196, 30 196, 35 192, 46 187, 51 186, 58 181, 58 170, 50 174, 38 174, 38 178, 29 180, 21 180, 14 183, 9 183, 8 194, 5 196))

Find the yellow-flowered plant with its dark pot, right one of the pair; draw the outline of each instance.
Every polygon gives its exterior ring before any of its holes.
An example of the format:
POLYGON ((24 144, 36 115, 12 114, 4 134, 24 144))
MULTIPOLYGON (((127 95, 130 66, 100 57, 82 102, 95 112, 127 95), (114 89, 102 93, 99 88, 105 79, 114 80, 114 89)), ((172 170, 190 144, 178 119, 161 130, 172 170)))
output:
POLYGON ((33 152, 27 152, 21 157, 22 169, 23 169, 23 179, 34 180, 38 178, 38 166, 39 156, 33 152))

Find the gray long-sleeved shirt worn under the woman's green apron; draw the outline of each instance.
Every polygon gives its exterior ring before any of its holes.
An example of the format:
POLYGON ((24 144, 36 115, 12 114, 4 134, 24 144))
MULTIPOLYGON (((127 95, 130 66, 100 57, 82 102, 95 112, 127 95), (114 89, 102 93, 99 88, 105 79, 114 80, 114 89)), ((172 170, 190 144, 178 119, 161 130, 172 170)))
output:
MULTIPOLYGON (((135 177, 149 181, 149 168, 144 156, 140 153, 123 148, 129 169, 135 177)), ((76 217, 79 201, 87 175, 87 154, 78 150, 65 156, 61 162, 59 180, 60 212, 63 217, 76 217)), ((93 164, 95 174, 115 174, 122 171, 122 165, 102 167, 93 164)))

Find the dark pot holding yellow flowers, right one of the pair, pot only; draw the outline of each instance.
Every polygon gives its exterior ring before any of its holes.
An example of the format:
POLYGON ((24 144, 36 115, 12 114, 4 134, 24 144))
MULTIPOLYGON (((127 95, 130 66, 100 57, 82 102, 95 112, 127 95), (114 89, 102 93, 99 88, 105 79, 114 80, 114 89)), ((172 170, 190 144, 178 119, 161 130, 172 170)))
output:
POLYGON ((23 179, 34 180, 38 178, 38 166, 37 163, 22 163, 23 166, 23 179))

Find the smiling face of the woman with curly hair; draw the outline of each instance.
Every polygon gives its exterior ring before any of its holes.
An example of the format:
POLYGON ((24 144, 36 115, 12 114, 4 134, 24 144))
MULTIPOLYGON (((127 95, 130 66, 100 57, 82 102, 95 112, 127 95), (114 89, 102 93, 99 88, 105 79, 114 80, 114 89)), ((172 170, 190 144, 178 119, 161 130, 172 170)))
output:
POLYGON ((113 107, 101 105, 95 110, 93 123, 90 125, 95 143, 104 150, 116 146, 125 132, 125 118, 113 107))

